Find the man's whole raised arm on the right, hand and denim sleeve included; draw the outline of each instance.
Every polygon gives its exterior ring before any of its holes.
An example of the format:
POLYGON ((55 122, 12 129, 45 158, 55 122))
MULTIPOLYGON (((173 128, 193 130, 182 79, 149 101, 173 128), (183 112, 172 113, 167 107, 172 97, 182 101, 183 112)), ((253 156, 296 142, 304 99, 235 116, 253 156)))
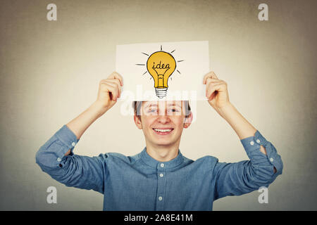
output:
POLYGON ((235 130, 250 158, 242 162, 216 164, 213 171, 216 176, 215 199, 268 186, 282 174, 282 160, 275 147, 230 103, 226 82, 218 79, 214 72, 209 72, 203 83, 206 84, 209 104, 235 130))

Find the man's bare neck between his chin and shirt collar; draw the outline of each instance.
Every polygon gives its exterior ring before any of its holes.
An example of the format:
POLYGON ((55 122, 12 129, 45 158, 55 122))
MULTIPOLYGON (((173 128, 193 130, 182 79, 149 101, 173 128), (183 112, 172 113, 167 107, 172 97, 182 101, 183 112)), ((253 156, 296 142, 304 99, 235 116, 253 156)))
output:
POLYGON ((153 146, 150 143, 147 143, 147 153, 151 156, 151 158, 154 158, 154 160, 168 162, 178 156, 179 146, 180 141, 175 143, 173 146, 153 146))

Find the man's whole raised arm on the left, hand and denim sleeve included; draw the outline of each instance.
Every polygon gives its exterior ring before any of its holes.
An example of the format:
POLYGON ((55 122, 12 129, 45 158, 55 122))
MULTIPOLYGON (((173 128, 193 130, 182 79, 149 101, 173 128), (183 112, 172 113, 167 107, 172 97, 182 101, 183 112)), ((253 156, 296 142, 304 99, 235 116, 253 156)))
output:
POLYGON ((103 193, 104 169, 108 155, 74 155, 73 149, 85 130, 116 103, 122 85, 122 77, 117 73, 101 80, 97 101, 61 127, 39 148, 36 162, 44 172, 66 186, 94 189, 103 193))

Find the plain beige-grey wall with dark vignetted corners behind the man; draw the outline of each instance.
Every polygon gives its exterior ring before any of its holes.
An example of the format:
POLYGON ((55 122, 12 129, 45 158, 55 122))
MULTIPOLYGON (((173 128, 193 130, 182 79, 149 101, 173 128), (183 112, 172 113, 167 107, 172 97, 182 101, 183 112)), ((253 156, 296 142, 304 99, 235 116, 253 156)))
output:
MULTIPOLYGON (((217 200, 213 209, 316 210, 316 8, 316 1, 1 1, 0 209, 102 210, 101 194, 58 184, 35 153, 97 98, 99 80, 115 70, 117 44, 206 40, 230 101, 284 162, 268 204, 254 191, 217 200), (46 20, 51 2, 54 22, 46 20), (269 21, 258 20, 261 3, 269 21), (49 186, 57 204, 46 203, 49 186)), ((143 148, 142 131, 118 104, 87 129, 75 153, 143 148)), ((204 101, 180 150, 193 160, 247 160, 235 132, 204 101)))

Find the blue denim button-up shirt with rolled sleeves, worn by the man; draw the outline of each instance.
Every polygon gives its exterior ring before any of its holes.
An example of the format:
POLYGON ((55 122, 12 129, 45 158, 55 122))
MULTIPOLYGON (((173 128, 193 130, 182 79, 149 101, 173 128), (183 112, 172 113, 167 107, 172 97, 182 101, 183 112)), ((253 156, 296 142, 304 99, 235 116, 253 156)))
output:
POLYGON ((282 174, 280 155, 259 131, 241 140, 250 160, 234 163, 210 155, 194 161, 180 150, 173 160, 159 162, 146 147, 133 156, 88 157, 73 153, 78 141, 64 125, 39 148, 36 162, 66 186, 103 193, 104 210, 212 210, 214 200, 267 187, 282 174), (70 155, 64 156, 69 149, 70 155))

